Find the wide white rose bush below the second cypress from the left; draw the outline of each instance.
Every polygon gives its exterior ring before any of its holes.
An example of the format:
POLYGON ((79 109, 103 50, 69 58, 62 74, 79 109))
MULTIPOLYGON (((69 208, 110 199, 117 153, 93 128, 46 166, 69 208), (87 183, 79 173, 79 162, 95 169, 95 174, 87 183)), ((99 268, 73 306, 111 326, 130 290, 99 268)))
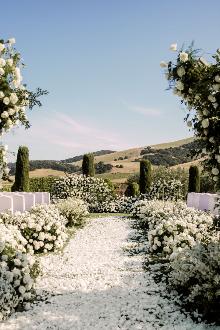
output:
POLYGON ((109 194, 108 184, 103 179, 74 174, 57 179, 54 190, 57 198, 78 197, 85 201, 91 194, 97 195, 98 201, 104 200, 109 194))

